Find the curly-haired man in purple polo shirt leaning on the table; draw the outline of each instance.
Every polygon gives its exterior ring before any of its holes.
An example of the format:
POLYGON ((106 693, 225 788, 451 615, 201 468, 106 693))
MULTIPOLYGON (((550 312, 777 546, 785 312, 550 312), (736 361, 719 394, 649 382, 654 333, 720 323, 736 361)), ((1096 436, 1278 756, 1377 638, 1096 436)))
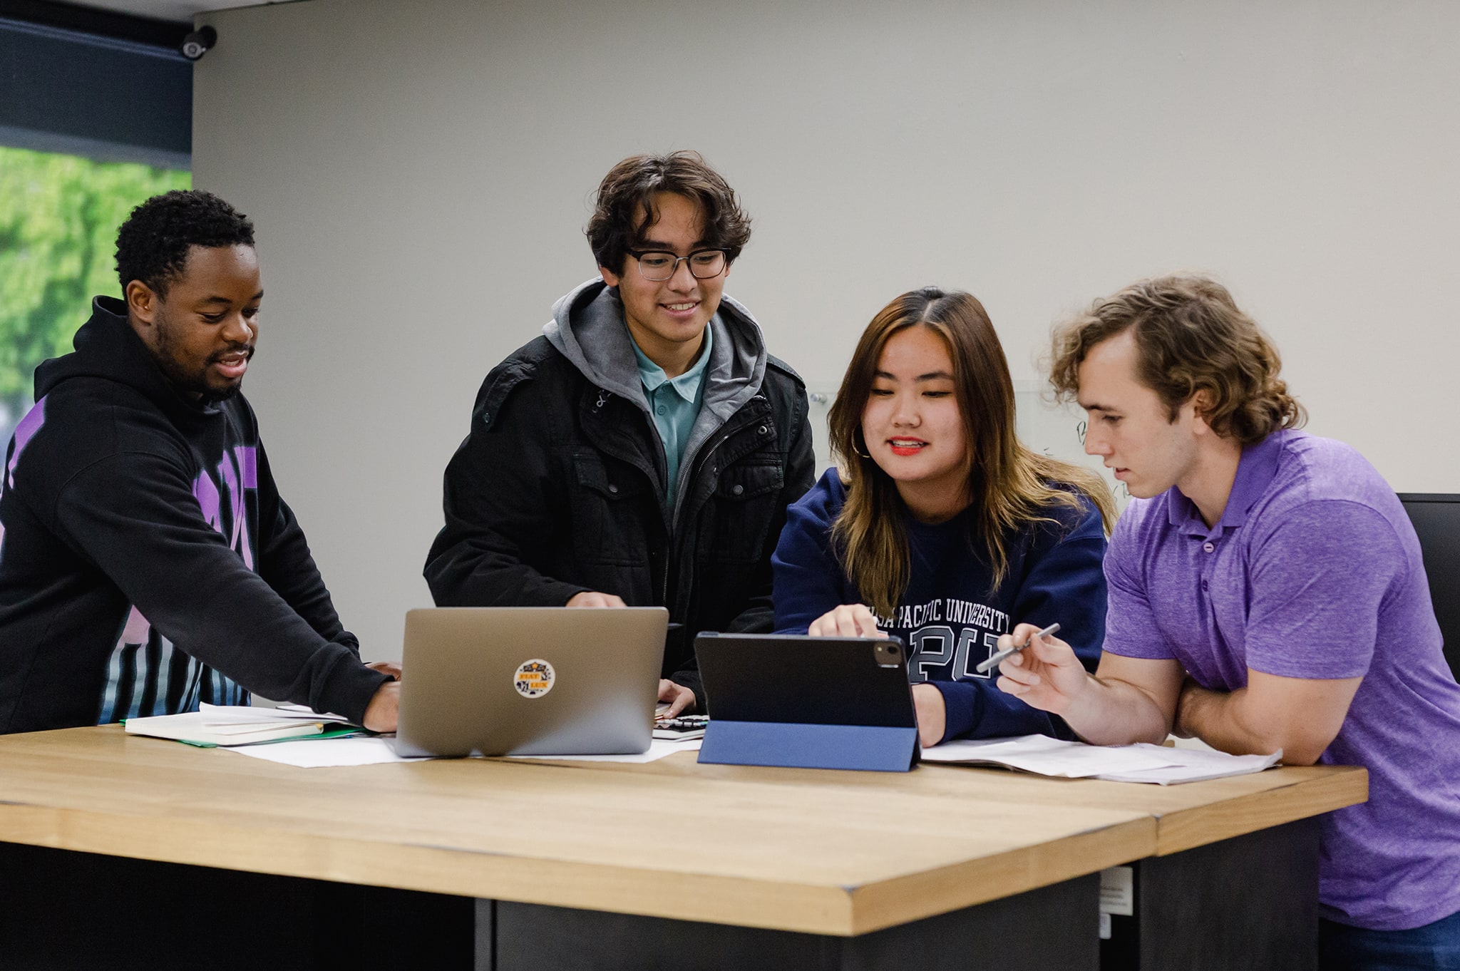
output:
POLYGON ((1057 331, 1051 381, 1134 498, 1096 675, 1050 638, 997 683, 1094 743, 1175 732, 1365 767, 1368 802, 1321 821, 1323 967, 1460 968, 1460 686, 1419 542, 1362 456, 1296 431, 1278 371, 1200 277, 1136 283, 1057 331))

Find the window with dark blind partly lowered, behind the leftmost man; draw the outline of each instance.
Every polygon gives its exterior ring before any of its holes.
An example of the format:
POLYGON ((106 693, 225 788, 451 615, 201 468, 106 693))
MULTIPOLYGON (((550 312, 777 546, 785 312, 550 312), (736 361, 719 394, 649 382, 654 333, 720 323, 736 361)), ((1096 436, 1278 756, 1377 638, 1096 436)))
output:
POLYGON ((117 228, 193 177, 188 25, 35 3, 0 18, 0 442, 35 366, 121 295, 117 228))

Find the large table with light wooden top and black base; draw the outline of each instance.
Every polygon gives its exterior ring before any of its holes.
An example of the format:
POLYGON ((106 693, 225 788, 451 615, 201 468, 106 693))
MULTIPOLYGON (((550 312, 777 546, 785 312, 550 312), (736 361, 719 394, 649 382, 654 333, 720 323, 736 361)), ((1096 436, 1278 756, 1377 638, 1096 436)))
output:
MULTIPOLYGON (((25 844, 0 857, 0 929, 10 955, 44 953, 45 967, 73 967, 36 930, 67 908, 72 932, 104 924, 82 933, 95 940, 77 945, 74 967, 96 959, 82 955, 89 948, 120 951, 115 936, 159 910, 175 914, 143 933, 147 959, 136 967, 172 967, 164 955, 174 948, 156 936, 194 932, 215 953, 187 967, 225 967, 220 940, 251 946, 248 930, 225 933, 229 914, 282 934, 257 939, 261 949, 308 952, 295 965, 270 953, 274 968, 385 964, 407 945, 418 959, 442 948, 418 967, 464 959, 504 971, 1096 967, 1095 875, 1132 861, 1137 904, 1174 894, 1216 913, 1212 897, 1225 891, 1203 876, 1213 861, 1238 860, 1245 894, 1283 898, 1291 880, 1273 894, 1251 880, 1286 854, 1308 901, 1294 918, 1311 911, 1315 934, 1315 826, 1294 821, 1365 794, 1367 774, 1353 768, 1169 788, 945 765, 905 775, 699 765, 689 753, 650 765, 296 769, 112 726, 72 729, 0 737, 0 841, 25 844), (1162 872, 1162 860, 1188 857, 1193 866, 1162 872), (58 899, 36 904, 51 883, 58 899), (349 897, 342 883, 393 889, 349 897), (331 910, 330 895, 349 902, 331 910), (98 908, 123 908, 123 926, 98 908), (381 943, 361 948, 361 936, 381 943)), ((1139 924, 1140 955, 1137 955, 1140 968, 1159 967, 1172 934, 1190 933, 1159 920, 1139 924)), ((22 967, 3 959, 6 948, 0 937, 0 965, 22 967)))

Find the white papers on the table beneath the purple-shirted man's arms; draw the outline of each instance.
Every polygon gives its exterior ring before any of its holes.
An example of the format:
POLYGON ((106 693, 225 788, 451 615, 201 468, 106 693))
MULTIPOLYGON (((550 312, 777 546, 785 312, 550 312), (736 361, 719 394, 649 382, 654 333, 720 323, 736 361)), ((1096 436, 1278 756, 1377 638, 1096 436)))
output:
POLYGON ((1260 772, 1276 765, 1280 758, 1280 751, 1273 755, 1228 755, 1146 743, 1085 745, 1044 734, 1026 734, 1018 739, 959 739, 923 749, 924 762, 1004 765, 1040 775, 1158 786, 1260 772))

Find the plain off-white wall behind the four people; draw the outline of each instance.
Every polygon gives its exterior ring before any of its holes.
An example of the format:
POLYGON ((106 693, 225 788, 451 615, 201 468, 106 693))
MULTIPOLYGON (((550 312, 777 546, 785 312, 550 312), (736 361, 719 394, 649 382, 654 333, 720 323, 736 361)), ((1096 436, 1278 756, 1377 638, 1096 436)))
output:
MULTIPOLYGON (((1228 282, 1310 428, 1460 492, 1460 4, 310 0, 203 18, 196 184, 257 220, 247 391, 346 623, 399 654, 485 372, 594 273, 590 194, 694 147, 729 292, 813 387, 896 293, 988 307, 1016 378, 1132 279, 1228 282)), ((504 457, 510 460, 510 457, 504 457)))

